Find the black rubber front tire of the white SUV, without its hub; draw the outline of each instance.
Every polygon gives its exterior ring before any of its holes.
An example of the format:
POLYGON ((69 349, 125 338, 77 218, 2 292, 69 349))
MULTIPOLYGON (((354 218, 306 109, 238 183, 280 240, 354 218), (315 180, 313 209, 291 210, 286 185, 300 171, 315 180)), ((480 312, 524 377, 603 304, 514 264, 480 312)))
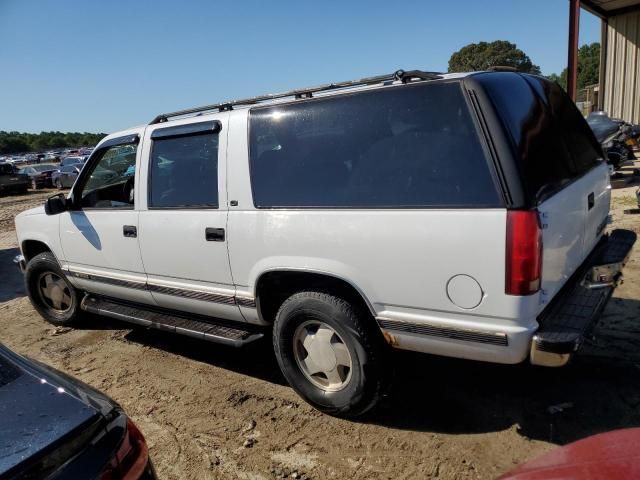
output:
POLYGON ((58 326, 70 326, 79 320, 82 314, 80 309, 81 296, 67 280, 53 253, 40 253, 29 260, 24 274, 24 282, 31 304, 46 321, 58 326), (41 282, 45 281, 44 277, 49 273, 62 280, 68 288, 70 301, 68 308, 64 310, 54 308, 50 304, 51 302, 47 302, 41 291, 41 282))

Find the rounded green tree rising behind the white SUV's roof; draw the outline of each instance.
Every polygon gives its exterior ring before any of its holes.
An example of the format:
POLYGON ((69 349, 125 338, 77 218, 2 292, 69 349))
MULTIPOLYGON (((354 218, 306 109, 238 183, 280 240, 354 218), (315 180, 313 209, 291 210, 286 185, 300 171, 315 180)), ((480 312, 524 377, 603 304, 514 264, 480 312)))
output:
POLYGON ((449 72, 475 72, 491 67, 513 67, 520 72, 540 73, 540 67, 534 65, 526 53, 506 40, 471 43, 449 59, 449 72))

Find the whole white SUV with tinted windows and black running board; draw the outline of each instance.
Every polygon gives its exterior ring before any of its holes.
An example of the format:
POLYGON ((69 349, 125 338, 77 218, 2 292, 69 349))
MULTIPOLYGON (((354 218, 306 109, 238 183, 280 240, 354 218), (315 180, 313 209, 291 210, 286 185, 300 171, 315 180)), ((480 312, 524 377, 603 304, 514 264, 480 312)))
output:
MULTIPOLYGON (((16 217, 34 307, 241 346, 357 415, 388 345, 559 366, 635 234, 605 235, 602 151, 554 83, 393 75, 159 115, 16 217)), ((259 359, 256 359, 259 361, 259 359)))

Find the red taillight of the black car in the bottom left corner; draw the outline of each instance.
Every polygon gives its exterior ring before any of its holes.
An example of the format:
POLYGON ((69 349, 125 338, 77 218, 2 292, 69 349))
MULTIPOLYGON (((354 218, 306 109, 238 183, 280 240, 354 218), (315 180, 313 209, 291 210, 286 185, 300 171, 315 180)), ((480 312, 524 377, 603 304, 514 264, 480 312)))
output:
POLYGON ((147 443, 138 427, 127 419, 124 440, 115 455, 103 470, 101 480, 137 480, 149 462, 147 443))

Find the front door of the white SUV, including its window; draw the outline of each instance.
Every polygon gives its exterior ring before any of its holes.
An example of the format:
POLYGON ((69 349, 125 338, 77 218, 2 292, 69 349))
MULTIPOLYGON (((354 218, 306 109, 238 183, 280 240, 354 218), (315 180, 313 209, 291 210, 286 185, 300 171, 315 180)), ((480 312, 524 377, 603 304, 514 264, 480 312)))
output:
POLYGON ((137 229, 138 135, 108 140, 94 152, 60 218, 69 278, 79 288, 153 304, 146 289, 137 229))

